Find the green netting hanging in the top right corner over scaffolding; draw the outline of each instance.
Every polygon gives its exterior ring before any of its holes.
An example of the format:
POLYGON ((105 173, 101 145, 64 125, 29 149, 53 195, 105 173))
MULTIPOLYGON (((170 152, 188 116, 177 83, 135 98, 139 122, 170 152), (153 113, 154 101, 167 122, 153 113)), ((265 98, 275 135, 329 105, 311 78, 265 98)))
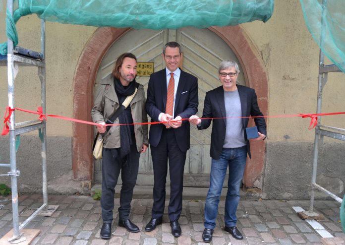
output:
POLYGON ((300 0, 305 23, 321 50, 345 72, 345 1, 300 0), (323 5, 324 1, 324 5, 323 5), (325 11, 322 11, 325 9, 325 11), (325 24, 322 26, 322 13, 325 24), (323 33, 323 43, 321 34, 323 33))

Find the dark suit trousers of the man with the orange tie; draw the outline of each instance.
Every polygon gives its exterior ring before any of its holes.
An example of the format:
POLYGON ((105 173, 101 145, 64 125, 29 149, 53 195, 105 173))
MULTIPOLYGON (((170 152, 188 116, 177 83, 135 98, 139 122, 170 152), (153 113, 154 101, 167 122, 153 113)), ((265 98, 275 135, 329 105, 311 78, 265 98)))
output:
POLYGON ((186 152, 179 149, 173 128, 164 128, 157 147, 151 145, 154 173, 152 218, 159 219, 164 214, 168 159, 170 173, 170 201, 168 214, 170 221, 178 220, 182 211, 183 170, 186 152))

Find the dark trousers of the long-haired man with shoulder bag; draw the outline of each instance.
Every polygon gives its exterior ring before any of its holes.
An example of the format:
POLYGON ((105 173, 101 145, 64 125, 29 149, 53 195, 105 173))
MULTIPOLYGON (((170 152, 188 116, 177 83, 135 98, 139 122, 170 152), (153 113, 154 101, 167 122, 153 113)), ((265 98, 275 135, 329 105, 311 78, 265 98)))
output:
POLYGON ((120 157, 120 148, 103 148, 101 208, 104 223, 113 222, 115 185, 120 172, 122 186, 118 217, 120 220, 129 219, 130 202, 132 201, 133 189, 138 176, 140 158, 135 139, 133 142, 130 146, 130 153, 127 155, 127 161, 124 163, 120 157))

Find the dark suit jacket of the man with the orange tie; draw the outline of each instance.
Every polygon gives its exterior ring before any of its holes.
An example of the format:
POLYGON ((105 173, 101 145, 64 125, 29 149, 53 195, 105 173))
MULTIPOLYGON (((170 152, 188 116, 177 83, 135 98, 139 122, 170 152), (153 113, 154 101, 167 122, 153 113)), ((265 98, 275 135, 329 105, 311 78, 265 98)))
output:
MULTIPOLYGON (((152 73, 147 88, 146 112, 151 117, 151 122, 159 122, 160 113, 165 113, 167 104, 167 73, 166 69, 152 73)), ((198 111, 198 78, 181 70, 174 106, 174 117, 181 116, 188 119, 198 111)), ((162 123, 151 124, 149 143, 157 146, 165 127, 162 123)), ((187 151, 190 147, 189 122, 182 121, 182 125, 176 129, 176 141, 181 151, 187 151)))

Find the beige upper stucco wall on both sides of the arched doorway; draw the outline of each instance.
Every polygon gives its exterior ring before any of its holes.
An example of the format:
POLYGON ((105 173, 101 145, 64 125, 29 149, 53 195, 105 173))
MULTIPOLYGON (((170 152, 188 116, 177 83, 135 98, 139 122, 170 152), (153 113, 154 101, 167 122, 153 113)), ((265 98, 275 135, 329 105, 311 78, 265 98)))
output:
MULTIPOLYGON (((315 113, 319 51, 304 23, 298 0, 276 1, 272 18, 241 25, 262 56, 269 75, 269 115, 315 113)), ((36 15, 17 23, 19 46, 40 50, 40 20, 36 15)), ((73 76, 79 55, 95 27, 47 22, 47 113, 72 117, 73 76)), ((0 15, 0 42, 6 41, 4 15, 0 15)), ((22 67, 15 83, 15 105, 36 110, 40 104, 37 69, 22 67)), ((0 115, 7 105, 6 68, 0 68, 0 115)), ((324 93, 323 112, 344 111, 344 74, 329 76, 324 93)), ((17 113, 17 120, 28 115, 17 113)), ((30 117, 32 118, 32 116, 30 117)), ((35 116, 33 116, 35 118, 35 116)), ((345 127, 344 116, 324 117, 323 123, 345 127)), ((269 119, 268 140, 304 141, 314 139, 309 119, 269 119)), ((49 119, 49 135, 72 134, 71 122, 49 119)))

